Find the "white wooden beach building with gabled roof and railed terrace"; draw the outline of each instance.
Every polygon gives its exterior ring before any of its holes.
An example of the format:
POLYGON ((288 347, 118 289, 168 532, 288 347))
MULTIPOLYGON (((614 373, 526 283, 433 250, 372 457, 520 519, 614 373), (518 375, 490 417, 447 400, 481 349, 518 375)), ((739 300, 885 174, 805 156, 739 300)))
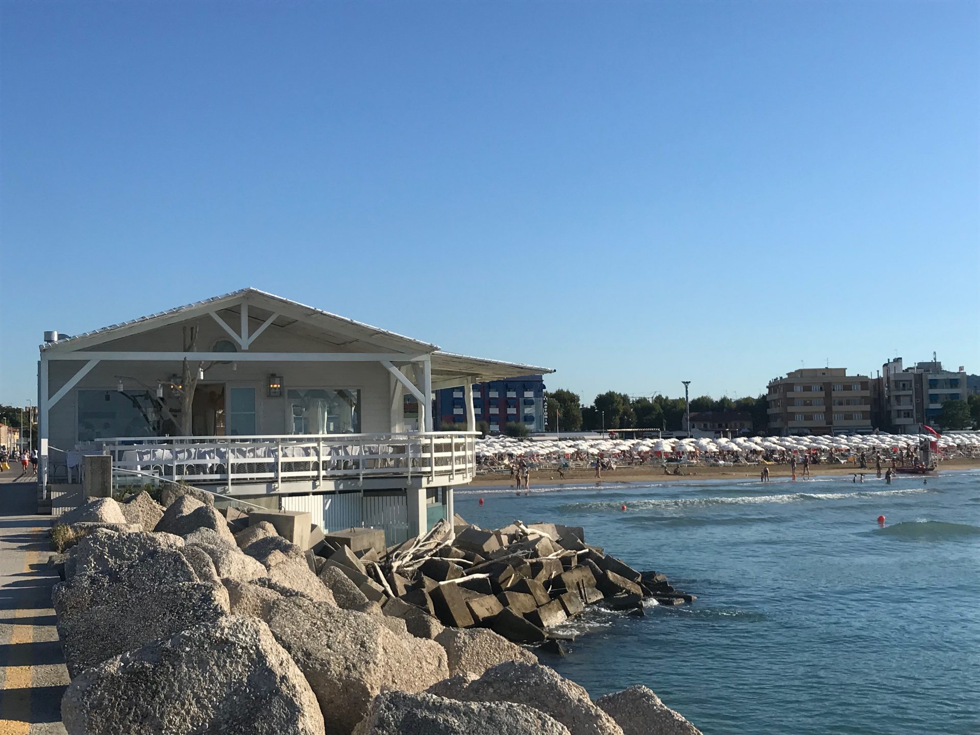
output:
POLYGON ((393 543, 451 518, 453 488, 475 474, 472 384, 551 371, 445 353, 245 288, 45 334, 39 482, 72 484, 82 455, 108 454, 114 475, 311 512, 324 529, 384 527, 393 543), (432 391, 457 386, 466 430, 433 431, 432 391))

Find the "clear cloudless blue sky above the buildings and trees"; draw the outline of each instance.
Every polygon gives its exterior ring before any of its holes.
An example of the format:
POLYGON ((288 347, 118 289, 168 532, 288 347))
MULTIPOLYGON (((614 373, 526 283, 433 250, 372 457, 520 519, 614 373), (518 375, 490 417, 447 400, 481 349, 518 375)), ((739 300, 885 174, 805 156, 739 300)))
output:
POLYGON ((980 4, 0 5, 0 401, 256 286, 583 393, 980 372, 980 4))

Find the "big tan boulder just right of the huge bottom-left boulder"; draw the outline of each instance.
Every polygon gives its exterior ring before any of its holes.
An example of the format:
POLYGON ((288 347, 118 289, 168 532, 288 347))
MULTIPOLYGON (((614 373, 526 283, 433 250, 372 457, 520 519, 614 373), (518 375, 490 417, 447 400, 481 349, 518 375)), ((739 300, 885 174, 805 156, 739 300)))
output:
POLYGON ((327 732, 354 729, 384 689, 419 692, 449 675, 439 644, 364 613, 291 598, 273 603, 269 626, 310 682, 327 732))

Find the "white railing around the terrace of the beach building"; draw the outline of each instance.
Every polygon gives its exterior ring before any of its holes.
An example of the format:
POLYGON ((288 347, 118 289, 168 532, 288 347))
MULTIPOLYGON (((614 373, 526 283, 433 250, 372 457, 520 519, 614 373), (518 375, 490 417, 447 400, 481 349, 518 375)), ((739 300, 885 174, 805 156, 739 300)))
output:
POLYGON ((113 466, 187 482, 226 484, 400 477, 423 484, 468 482, 476 432, 113 437, 79 446, 113 466))

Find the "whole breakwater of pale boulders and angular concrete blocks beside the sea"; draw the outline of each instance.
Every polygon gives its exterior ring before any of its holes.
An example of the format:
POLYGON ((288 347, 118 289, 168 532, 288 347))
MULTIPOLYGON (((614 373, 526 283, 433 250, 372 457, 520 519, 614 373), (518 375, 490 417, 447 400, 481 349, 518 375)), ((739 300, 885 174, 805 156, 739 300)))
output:
POLYGON ((586 605, 685 600, 580 528, 457 517, 455 539, 445 522, 393 548, 314 528, 305 549, 195 493, 166 500, 101 499, 56 532, 73 544, 52 558, 70 735, 698 733, 644 688, 593 703, 517 645, 586 605))

